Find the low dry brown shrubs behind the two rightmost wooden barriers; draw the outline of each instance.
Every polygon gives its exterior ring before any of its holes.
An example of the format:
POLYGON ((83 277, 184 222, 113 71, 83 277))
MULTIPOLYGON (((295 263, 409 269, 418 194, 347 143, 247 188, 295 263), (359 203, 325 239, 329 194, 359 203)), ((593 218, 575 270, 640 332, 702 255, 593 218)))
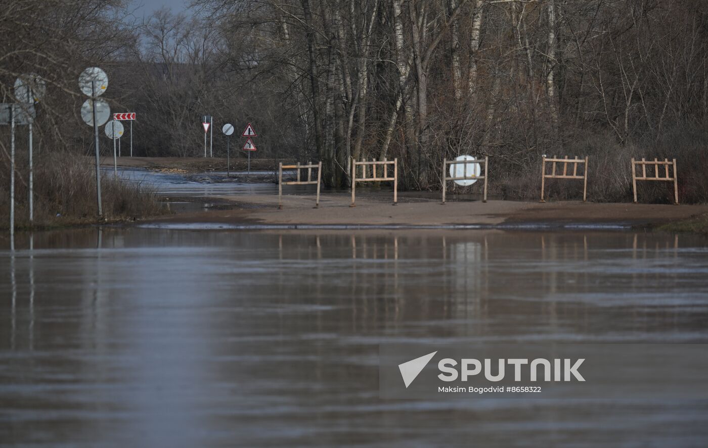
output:
MULTIPOLYGON (((612 134, 590 134, 566 145, 564 151, 547 151, 546 155, 563 157, 586 155, 589 160, 588 201, 629 202, 632 196, 630 160, 676 159, 679 200, 686 204, 708 202, 708 131, 686 126, 667 131, 657 141, 622 146, 612 134)), ((510 164, 502 158, 490 157, 489 192, 503 199, 538 200, 541 191, 542 152, 530 155, 527 163, 510 164)), ((578 165, 578 168, 583 165, 578 165)), ((562 164, 558 165, 562 169, 562 164)), ((572 165, 569 165, 571 170, 572 165)), ((647 172, 653 175, 653 168, 647 172)), ((671 174, 671 173, 670 173, 671 174)), ((659 177, 665 175, 659 168, 659 177)), ((547 199, 577 200, 583 196, 582 180, 546 179, 547 199)), ((640 202, 673 203, 672 182, 637 182, 640 202)))

